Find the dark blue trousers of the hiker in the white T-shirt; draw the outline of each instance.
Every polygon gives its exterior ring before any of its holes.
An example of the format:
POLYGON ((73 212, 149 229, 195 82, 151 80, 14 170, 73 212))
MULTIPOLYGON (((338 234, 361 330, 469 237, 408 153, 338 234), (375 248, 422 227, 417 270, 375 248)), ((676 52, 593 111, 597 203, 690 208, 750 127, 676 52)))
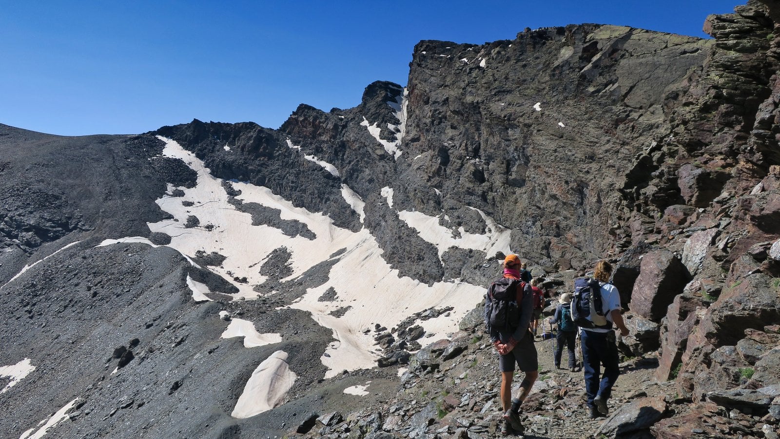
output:
POLYGON ((612 386, 618 380, 618 347, 615 345, 615 332, 582 331, 583 370, 585 372, 585 391, 587 405, 593 407, 597 395, 608 399, 612 386), (601 377, 601 366, 604 375, 601 377), (601 378, 601 379, 600 379, 601 378))

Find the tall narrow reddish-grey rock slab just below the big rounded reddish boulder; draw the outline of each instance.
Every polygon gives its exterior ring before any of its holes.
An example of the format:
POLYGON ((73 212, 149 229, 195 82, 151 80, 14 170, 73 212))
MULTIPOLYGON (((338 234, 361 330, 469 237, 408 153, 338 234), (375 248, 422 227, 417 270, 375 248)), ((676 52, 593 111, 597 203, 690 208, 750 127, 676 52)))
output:
POLYGON ((655 370, 655 378, 658 381, 666 381, 672 377, 672 371, 682 360, 688 336, 699 321, 696 311, 704 308, 704 300, 688 292, 675 297, 672 305, 668 307, 661 324, 661 358, 655 370))

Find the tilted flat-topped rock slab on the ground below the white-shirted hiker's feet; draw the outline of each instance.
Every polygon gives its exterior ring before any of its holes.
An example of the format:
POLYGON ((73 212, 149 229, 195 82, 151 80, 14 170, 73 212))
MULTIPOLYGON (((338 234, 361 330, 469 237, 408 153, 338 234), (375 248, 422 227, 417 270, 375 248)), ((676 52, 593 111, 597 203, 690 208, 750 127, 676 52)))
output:
POLYGON ((663 396, 636 399, 621 405, 615 413, 601 424, 594 437, 621 437, 645 430, 658 422, 666 411, 663 396))

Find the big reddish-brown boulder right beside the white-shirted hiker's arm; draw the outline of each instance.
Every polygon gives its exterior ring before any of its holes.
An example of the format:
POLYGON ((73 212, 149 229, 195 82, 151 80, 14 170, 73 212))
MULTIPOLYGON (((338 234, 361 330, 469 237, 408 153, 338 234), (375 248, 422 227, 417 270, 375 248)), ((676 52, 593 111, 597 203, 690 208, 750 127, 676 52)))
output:
POLYGON ((690 274, 674 253, 668 250, 647 253, 631 292, 631 310, 646 319, 660 321, 689 280, 690 274))

